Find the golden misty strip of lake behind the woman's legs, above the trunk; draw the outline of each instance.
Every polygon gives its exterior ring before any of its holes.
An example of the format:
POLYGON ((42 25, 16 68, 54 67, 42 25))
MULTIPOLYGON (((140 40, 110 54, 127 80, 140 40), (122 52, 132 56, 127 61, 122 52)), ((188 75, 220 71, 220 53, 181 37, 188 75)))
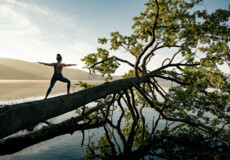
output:
MULTIPOLYGON (((84 81, 91 84, 100 84, 103 81, 84 81)), ((80 89, 79 81, 71 81, 71 92, 80 89)), ((0 105, 21 103, 43 99, 49 88, 50 80, 0 80, 0 105)), ((57 81, 49 97, 66 94, 67 84, 57 81)))

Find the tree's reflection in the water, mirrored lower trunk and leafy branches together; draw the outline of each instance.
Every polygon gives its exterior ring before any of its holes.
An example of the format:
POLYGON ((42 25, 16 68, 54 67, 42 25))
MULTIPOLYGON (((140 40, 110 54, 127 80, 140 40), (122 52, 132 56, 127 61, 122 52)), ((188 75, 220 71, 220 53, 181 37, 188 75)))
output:
MULTIPOLYGON (((1 140, 0 154, 10 154, 53 137, 101 127, 104 135, 88 137, 84 159, 227 159, 229 133, 208 133, 203 126, 143 114, 149 107, 135 88, 98 100, 93 108, 76 110, 79 116, 49 124, 26 135, 1 140), (143 105, 139 105, 143 104, 143 105), (114 113, 117 112, 118 113, 114 113), (203 128, 202 128, 203 127, 203 128)), ((159 104, 160 105, 160 104, 159 104)), ((149 108, 153 110, 153 108, 149 108)), ((186 119, 185 119, 186 120, 186 119)), ((223 129, 223 128, 222 128, 223 129)), ((80 145, 80 144, 79 144, 80 145)))

